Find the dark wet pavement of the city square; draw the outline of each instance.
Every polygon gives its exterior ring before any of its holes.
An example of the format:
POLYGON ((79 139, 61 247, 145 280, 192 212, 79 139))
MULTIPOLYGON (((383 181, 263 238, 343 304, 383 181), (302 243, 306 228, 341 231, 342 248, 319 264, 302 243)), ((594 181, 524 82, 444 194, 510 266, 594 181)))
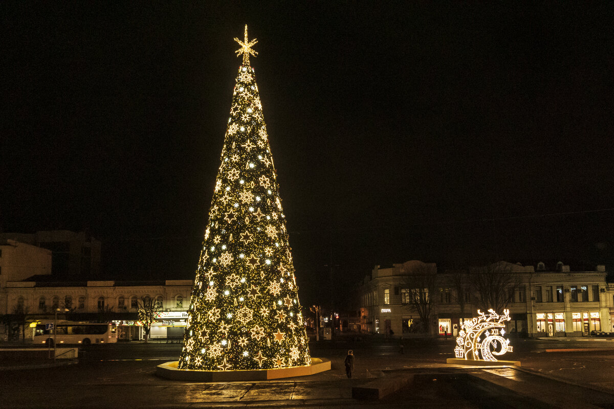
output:
POLYGON ((580 407, 614 408, 614 341, 514 340, 506 359, 515 369, 460 369, 445 364, 454 340, 361 340, 310 343, 312 356, 332 369, 309 377, 271 381, 198 383, 170 381, 155 367, 174 361, 181 345, 91 345, 78 364, 0 372, 3 407, 580 407), (356 367, 346 377, 343 359, 354 350, 356 367), (379 402, 352 399, 352 387, 415 376, 412 384, 379 402), (463 378, 470 375, 472 381, 463 378), (476 380, 483 383, 476 383, 476 380), (491 388, 497 386, 497 388, 491 388), (499 388, 499 386, 501 388, 499 388), (525 396, 523 396, 525 395, 525 396), (530 398, 530 399, 529 399, 530 398), (536 400, 543 402, 536 406, 536 400), (502 402, 502 399, 505 402, 502 402), (608 406, 611 400, 612 406, 608 406))

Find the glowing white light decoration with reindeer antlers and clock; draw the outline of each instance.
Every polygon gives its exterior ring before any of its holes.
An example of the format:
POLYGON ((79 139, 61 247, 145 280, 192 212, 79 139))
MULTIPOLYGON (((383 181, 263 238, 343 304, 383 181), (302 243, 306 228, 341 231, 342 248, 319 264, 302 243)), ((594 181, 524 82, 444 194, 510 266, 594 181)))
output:
POLYGON ((503 310, 503 315, 497 314, 492 308, 488 312, 486 315, 478 310, 477 317, 462 324, 454 348, 457 358, 496 362, 495 355, 512 352, 510 340, 503 337, 505 321, 510 321, 510 310, 503 310))

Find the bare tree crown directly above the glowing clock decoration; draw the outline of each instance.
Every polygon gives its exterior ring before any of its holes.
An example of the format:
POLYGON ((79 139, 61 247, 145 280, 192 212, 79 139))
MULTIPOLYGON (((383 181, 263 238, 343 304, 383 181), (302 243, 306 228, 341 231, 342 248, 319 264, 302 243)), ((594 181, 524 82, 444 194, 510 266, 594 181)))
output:
POLYGON ((476 291, 476 302, 484 311, 490 308, 503 311, 514 298, 520 277, 512 271, 512 264, 495 262, 470 269, 470 282, 476 291))

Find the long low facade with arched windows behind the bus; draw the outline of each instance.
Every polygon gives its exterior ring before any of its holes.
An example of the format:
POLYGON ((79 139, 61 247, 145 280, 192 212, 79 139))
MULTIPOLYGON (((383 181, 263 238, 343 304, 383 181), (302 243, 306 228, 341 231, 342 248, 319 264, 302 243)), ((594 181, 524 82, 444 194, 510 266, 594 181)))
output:
MULTIPOLYGON (((149 297, 161 308, 149 337, 180 339, 190 305, 192 284, 192 280, 7 281, 0 289, 4 299, 4 309, 0 313, 12 315, 12 312, 21 309, 24 312, 23 322, 15 321, 14 325, 28 325, 52 322, 60 308, 58 320, 113 321, 119 326, 120 339, 142 339, 143 331, 137 316, 138 303, 149 297), (64 309, 69 312, 64 312, 64 309)), ((7 340, 11 332, 16 333, 7 325, 0 326, 0 339, 7 340)), ((18 336, 22 336, 20 331, 18 336)), ((23 336, 32 337, 29 326, 23 336)))

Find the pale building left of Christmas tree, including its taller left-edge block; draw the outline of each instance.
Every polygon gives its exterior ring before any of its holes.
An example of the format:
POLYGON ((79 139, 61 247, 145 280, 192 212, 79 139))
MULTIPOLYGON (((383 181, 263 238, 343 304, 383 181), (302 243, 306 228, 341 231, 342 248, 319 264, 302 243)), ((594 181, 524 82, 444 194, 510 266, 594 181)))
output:
POLYGON ((51 250, 11 239, 0 242, 0 315, 4 317, 0 340, 30 338, 28 324, 53 321, 56 313, 61 320, 115 321, 120 338, 123 334, 139 339, 143 334, 137 312, 142 299, 152 299, 161 310, 151 338, 183 335, 192 280, 86 281, 78 276, 58 277, 52 265, 51 250))

